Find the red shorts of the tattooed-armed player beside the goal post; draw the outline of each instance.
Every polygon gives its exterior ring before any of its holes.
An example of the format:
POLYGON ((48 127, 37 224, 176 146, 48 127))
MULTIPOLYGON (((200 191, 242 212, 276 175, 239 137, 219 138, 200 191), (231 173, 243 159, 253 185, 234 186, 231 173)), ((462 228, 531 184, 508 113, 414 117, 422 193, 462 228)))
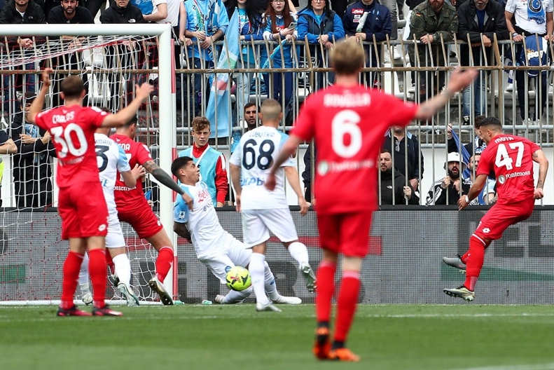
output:
POLYGON ((146 239, 159 233, 163 226, 158 217, 152 212, 146 198, 141 197, 133 203, 117 205, 119 221, 130 224, 137 231, 139 238, 146 239))

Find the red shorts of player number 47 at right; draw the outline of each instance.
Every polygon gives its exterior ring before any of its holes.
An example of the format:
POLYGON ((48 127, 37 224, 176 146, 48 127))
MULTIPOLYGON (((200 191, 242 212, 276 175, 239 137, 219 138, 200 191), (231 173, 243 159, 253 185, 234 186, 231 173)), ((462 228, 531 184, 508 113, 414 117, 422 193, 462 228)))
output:
POLYGON ((479 222, 475 235, 490 240, 500 239, 506 228, 531 216, 534 203, 534 199, 530 198, 511 205, 493 205, 479 222))

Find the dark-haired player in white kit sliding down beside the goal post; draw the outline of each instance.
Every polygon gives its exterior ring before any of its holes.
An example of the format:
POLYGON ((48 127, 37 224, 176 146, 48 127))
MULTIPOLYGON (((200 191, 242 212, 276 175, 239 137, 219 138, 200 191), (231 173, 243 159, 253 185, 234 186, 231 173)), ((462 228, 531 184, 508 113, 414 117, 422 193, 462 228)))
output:
MULTIPOLYGON (((212 197, 207 185, 199 182, 200 170, 191 157, 176 158, 171 166, 171 172, 179 181, 180 186, 193 198, 193 210, 181 198, 177 198, 173 207, 173 229, 183 238, 192 240, 194 251, 200 262, 225 284, 226 275, 230 268, 236 266, 247 267, 252 255, 251 249, 223 230, 212 197)), ((297 297, 281 296, 275 287, 275 278, 268 263, 264 263, 265 292, 272 303, 300 304, 297 297)), ((233 304, 244 301, 252 292, 252 287, 242 292, 231 290, 226 296, 218 295, 216 303, 233 304)))

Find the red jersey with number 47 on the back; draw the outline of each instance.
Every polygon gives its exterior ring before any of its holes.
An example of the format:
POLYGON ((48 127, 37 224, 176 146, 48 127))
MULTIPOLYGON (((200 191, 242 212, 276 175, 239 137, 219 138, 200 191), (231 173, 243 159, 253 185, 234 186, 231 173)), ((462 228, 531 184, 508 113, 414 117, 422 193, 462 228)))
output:
POLYGON ((540 146, 515 135, 497 135, 481 153, 476 174, 497 178, 497 204, 509 204, 533 198, 533 153, 540 146))

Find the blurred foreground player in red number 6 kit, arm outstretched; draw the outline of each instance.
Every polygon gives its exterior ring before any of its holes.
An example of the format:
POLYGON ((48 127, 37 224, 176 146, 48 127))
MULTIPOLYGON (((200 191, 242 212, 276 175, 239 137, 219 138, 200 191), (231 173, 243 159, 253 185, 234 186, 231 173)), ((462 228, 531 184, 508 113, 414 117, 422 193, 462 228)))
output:
POLYGON ((414 118, 431 118, 456 91, 473 81, 476 71, 453 71, 443 93, 417 106, 359 85, 363 50, 354 39, 335 45, 331 64, 336 74, 335 85, 307 98, 265 184, 273 189, 277 168, 296 151, 298 144, 314 138, 317 148, 314 193, 319 240, 324 249, 317 270, 314 355, 319 359, 359 361, 345 347, 345 341, 356 310, 361 259, 368 252, 371 214, 378 209, 377 160, 385 132, 392 125, 406 126, 414 118), (343 273, 331 347, 329 320, 339 253, 344 255, 343 273))

